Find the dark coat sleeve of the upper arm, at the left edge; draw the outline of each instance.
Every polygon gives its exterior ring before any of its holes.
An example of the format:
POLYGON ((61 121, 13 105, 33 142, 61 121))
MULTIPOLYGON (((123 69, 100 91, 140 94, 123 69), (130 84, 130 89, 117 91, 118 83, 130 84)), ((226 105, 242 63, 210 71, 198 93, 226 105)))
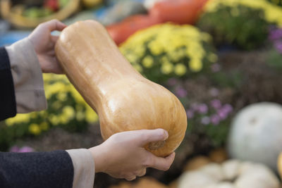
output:
POLYGON ((16 96, 13 87, 8 53, 0 47, 0 120, 16 115, 16 96))

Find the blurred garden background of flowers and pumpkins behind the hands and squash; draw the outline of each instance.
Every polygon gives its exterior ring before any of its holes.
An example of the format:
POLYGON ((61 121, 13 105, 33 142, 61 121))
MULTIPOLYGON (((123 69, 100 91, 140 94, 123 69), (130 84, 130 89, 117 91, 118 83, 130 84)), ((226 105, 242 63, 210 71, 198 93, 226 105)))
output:
MULTIPOLYGON (((185 106, 170 170, 133 182, 99 173, 94 187, 282 187, 281 0, 1 0, 0 11, 1 46, 54 18, 98 20, 136 70, 185 106)), ((103 142, 97 114, 64 75, 44 75, 44 87, 47 111, 1 122, 0 151, 103 142)))

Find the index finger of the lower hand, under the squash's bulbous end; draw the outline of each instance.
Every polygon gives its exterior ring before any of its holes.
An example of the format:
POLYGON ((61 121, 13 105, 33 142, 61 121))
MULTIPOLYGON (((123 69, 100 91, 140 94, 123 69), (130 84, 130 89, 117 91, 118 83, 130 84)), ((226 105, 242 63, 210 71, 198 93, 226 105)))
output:
POLYGON ((145 167, 156 168, 158 170, 166 171, 171 167, 171 164, 173 163, 175 156, 176 153, 174 152, 171 153, 166 158, 157 157, 154 156, 154 154, 152 154, 151 156, 149 156, 148 160, 146 161, 145 167))

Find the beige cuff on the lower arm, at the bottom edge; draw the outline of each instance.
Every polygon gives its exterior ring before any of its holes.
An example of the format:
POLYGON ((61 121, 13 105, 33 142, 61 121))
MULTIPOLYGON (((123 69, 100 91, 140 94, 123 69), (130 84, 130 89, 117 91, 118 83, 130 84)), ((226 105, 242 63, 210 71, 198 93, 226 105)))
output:
POLYGON ((88 149, 66 150, 73 161, 73 188, 92 188, 94 185, 95 166, 88 149))

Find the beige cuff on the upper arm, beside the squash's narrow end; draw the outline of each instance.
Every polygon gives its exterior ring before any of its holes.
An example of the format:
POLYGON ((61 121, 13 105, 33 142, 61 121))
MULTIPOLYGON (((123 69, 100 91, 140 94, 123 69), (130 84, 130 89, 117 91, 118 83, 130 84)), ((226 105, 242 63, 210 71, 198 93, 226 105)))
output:
POLYGON ((28 38, 7 46, 16 94, 17 113, 42 111, 47 108, 42 70, 28 38))

